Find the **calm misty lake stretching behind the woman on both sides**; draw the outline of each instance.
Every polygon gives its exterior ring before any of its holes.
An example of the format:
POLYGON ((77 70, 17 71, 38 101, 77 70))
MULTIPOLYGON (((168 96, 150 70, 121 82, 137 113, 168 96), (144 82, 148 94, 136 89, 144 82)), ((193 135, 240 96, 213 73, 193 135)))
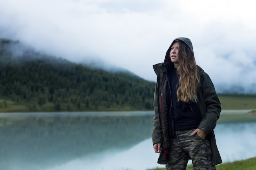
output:
MULTIPOLYGON (((247 112, 223 112, 218 121, 223 162, 256 157, 256 116, 247 112)), ((153 150, 152 124, 153 111, 0 113, 0 170, 164 167, 153 150)))

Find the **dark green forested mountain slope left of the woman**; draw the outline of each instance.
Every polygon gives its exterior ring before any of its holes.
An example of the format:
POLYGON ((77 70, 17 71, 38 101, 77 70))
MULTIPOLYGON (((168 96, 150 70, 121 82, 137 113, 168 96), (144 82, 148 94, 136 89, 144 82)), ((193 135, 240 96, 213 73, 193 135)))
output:
POLYGON ((37 53, 18 41, 0 39, 0 108, 152 110, 154 87, 155 82, 128 72, 90 68, 37 53))

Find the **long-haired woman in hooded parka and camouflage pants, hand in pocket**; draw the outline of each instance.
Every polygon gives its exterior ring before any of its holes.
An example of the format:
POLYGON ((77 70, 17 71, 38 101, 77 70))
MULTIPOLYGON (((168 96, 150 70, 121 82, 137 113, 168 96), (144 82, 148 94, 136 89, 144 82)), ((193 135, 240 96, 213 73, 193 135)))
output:
POLYGON ((222 163, 213 129, 221 105, 210 77, 197 66, 189 38, 176 38, 157 74, 153 148, 166 170, 216 170, 222 163))

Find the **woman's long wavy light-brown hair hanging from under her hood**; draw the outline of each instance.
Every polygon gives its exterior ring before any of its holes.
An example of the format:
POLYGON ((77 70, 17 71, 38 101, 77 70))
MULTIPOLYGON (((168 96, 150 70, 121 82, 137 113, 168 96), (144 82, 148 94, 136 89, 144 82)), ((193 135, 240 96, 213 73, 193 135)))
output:
POLYGON ((177 100, 183 102, 197 102, 197 88, 200 84, 198 67, 195 62, 194 52, 189 49, 184 42, 175 40, 180 43, 179 66, 177 68, 177 100))

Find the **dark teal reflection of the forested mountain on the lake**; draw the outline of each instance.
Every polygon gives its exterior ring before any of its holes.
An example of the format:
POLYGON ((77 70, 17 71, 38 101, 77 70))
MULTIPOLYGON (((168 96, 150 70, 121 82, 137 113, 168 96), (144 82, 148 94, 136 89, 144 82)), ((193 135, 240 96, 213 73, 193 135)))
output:
POLYGON ((1 114, 0 165, 49 168, 104 150, 126 150, 150 137, 152 114, 119 114, 1 114))

